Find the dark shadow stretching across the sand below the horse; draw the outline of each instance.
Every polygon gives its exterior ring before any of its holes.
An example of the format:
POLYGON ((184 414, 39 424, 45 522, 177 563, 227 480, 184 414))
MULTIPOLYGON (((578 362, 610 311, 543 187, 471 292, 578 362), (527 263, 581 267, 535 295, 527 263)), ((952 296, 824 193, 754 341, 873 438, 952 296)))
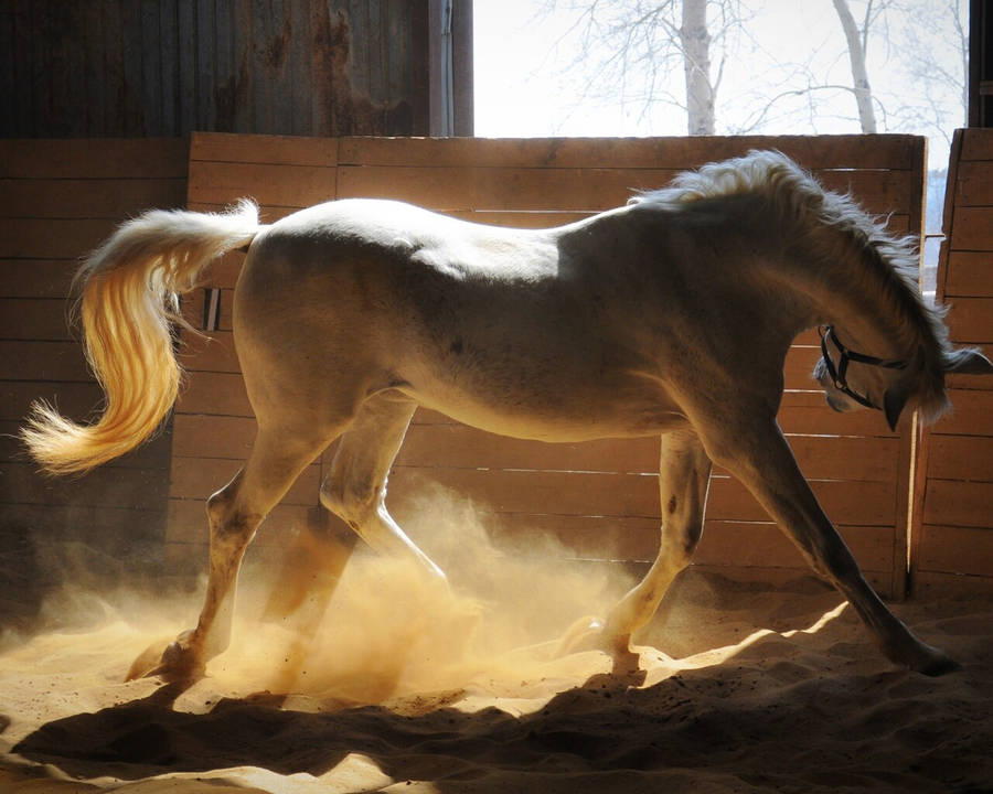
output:
POLYGON ((594 676, 522 716, 467 712, 444 698, 426 698, 413 715, 382 706, 314 713, 270 694, 192 715, 174 710, 182 687, 167 685, 49 722, 13 752, 73 777, 125 781, 236 766, 321 776, 359 753, 393 781, 427 781, 436 792, 967 792, 990 782, 989 770, 967 761, 982 758, 980 744, 991 739, 990 730, 976 732, 982 715, 937 716, 932 679, 836 669, 811 676, 788 659, 762 666, 764 653, 775 655, 765 643, 649 687, 594 676), (891 741, 886 753, 876 749, 894 731, 896 759, 891 741))

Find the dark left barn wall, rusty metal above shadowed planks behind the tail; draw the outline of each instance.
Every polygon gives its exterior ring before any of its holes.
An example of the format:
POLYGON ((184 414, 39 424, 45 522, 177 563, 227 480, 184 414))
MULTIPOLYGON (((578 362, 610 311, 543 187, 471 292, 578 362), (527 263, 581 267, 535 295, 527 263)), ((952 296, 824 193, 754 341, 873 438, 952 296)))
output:
POLYGON ((0 0, 0 629, 67 561, 161 570, 171 421, 73 480, 15 438, 38 397, 99 406, 66 323, 79 257, 185 204, 193 131, 427 135, 428 58, 428 0, 0 0))

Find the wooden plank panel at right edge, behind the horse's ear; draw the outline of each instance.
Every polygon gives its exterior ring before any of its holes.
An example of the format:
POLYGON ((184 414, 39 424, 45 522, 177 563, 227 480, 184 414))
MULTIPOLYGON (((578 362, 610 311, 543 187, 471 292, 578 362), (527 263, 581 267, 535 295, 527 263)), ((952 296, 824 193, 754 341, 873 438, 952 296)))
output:
MULTIPOLYGON (((938 299, 951 339, 993 355, 993 130, 958 130, 946 194, 938 299)), ((949 378, 953 412, 925 431, 917 476, 916 591, 993 586, 993 378, 949 378)))

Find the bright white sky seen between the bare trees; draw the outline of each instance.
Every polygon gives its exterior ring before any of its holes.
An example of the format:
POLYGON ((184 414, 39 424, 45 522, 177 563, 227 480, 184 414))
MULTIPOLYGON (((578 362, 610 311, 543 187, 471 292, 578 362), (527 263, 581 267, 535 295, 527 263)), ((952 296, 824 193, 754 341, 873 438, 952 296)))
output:
MULTIPOLYGON (((608 0, 609 1, 609 0, 608 0)), ((810 61, 820 79, 851 85, 851 71, 841 23, 831 0, 747 0, 754 17, 748 35, 733 42, 733 60, 725 66, 717 97, 717 132, 729 133, 747 125, 749 114, 784 88, 784 73, 777 64, 810 61), (779 84, 778 86, 776 84, 779 84)), ((967 0, 952 0, 964 3, 967 0)), ((567 31, 575 12, 559 10, 541 18, 542 0, 474 0, 476 52, 476 135, 482 137, 545 136, 670 136, 686 133, 685 112, 656 103, 648 111, 639 101, 586 100, 578 96, 588 82, 583 64, 576 61, 575 36, 567 31)), ((559 1, 562 3, 562 0, 559 1)), ((864 4, 851 0, 853 13, 861 18, 864 4)), ((937 13, 943 0, 928 8, 937 13)), ((921 19, 919 35, 926 50, 942 67, 961 72, 958 54, 949 45, 948 30, 921 19)), ((896 25, 895 25, 896 26, 896 25)), ((894 33, 890 40, 901 37, 894 33)), ((908 45, 904 44, 905 47, 908 45)), ((716 68, 716 55, 714 67, 716 68)), ((878 131, 912 132, 930 137, 931 168, 948 162, 944 136, 923 122, 897 117, 894 109, 907 104, 907 97, 923 103, 920 81, 909 74, 906 57, 896 45, 877 36, 868 47, 869 82, 887 108, 877 110, 878 131), (915 128, 916 127, 916 128, 915 128)), ((683 94, 682 69, 674 69, 670 90, 683 94)), ((620 94, 618 88, 617 94, 620 94)), ((813 124, 807 100, 777 103, 776 112, 757 133, 841 133, 858 132, 855 100, 845 92, 816 94, 823 99, 813 124), (832 97, 829 100, 829 97, 832 97)), ((961 99, 951 89, 938 97, 949 110, 942 127, 962 126, 961 99)))

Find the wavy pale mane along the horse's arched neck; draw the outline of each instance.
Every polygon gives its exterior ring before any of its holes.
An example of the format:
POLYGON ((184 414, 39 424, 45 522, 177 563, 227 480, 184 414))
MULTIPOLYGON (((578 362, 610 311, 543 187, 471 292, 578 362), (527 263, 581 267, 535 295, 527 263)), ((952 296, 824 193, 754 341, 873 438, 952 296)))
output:
MULTIPOLYGON (((916 400, 926 421, 949 408, 944 372, 968 351, 953 351, 944 324, 946 310, 925 302, 918 288, 917 239, 886 230, 885 219, 868 215, 850 195, 824 190, 810 173, 779 151, 750 151, 746 157, 706 164, 679 174, 671 186, 641 193, 630 204, 677 210, 707 198, 760 197, 788 237, 802 239, 804 251, 819 260, 822 278, 861 294, 877 294, 891 310, 897 339, 908 351, 920 351, 916 400), (824 235, 824 228, 841 235, 824 235), (855 272, 837 264, 855 258, 855 272)), ((911 353, 912 356, 912 353, 911 353)))

